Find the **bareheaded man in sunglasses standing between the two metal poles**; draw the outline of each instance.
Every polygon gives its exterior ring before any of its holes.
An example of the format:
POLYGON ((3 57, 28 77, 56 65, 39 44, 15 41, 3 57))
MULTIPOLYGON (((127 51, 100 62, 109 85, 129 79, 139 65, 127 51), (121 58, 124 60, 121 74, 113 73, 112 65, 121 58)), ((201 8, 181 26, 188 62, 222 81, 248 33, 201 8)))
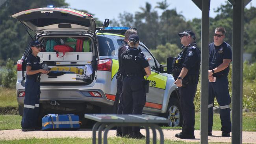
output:
POLYGON ((228 91, 229 64, 232 60, 231 46, 224 42, 226 30, 218 27, 213 33, 214 42, 209 44, 209 121, 208 135, 213 125, 213 101, 216 96, 220 108, 222 137, 230 137, 230 95, 228 91))

